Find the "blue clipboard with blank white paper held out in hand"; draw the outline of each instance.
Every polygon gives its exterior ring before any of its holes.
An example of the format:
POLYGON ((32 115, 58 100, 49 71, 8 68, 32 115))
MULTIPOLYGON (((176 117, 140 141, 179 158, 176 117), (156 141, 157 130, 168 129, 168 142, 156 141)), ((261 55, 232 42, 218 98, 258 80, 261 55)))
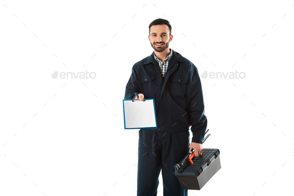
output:
POLYGON ((125 129, 156 129, 156 113, 153 98, 123 99, 125 129))

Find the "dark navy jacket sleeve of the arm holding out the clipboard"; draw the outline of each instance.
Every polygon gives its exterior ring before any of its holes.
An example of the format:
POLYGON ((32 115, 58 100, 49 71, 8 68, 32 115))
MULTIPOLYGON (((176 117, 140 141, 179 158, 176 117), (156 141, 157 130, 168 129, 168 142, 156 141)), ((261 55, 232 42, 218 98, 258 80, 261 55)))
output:
POLYGON ((140 94, 140 83, 134 66, 132 68, 132 74, 129 82, 126 86, 125 99, 136 98, 135 93, 140 94))

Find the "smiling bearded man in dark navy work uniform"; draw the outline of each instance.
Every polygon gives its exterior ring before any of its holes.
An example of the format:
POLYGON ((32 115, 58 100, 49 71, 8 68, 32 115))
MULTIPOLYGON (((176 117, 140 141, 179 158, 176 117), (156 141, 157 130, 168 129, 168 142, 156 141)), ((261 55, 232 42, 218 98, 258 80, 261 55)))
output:
MULTIPOLYGON (((171 25, 165 19, 149 24, 154 52, 132 68, 125 99, 154 98, 156 129, 140 129, 137 196, 156 196, 160 169, 164 196, 187 196, 174 175, 174 165, 193 148, 203 150, 207 118, 197 68, 169 48, 171 25), (189 145, 189 127, 193 133, 189 145)), ((140 111, 144 112, 144 111, 140 111)), ((140 112, 138 115, 140 115, 140 112)))

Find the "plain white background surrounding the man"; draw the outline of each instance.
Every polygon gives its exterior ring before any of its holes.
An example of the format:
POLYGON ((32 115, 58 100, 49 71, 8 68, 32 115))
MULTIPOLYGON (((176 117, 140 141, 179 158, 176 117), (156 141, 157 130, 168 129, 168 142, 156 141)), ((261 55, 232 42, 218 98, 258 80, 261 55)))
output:
MULTIPOLYGON (((148 25, 201 78, 222 169, 189 196, 293 195, 294 2, 8 1, 0 4, 0 195, 135 196, 138 131, 125 130, 132 66, 153 49, 148 25), (60 72, 95 79, 53 79, 60 72)), ((192 135, 190 135, 190 139, 192 135)), ((162 196, 160 174, 158 196, 162 196)))

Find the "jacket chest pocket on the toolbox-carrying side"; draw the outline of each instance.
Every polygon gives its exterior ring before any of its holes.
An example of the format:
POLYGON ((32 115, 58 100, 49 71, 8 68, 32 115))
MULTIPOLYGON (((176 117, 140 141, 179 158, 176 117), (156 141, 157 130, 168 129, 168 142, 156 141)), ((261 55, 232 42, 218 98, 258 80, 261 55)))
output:
POLYGON ((173 74, 168 77, 169 92, 173 97, 183 97, 186 93, 186 85, 188 82, 188 76, 173 74))

